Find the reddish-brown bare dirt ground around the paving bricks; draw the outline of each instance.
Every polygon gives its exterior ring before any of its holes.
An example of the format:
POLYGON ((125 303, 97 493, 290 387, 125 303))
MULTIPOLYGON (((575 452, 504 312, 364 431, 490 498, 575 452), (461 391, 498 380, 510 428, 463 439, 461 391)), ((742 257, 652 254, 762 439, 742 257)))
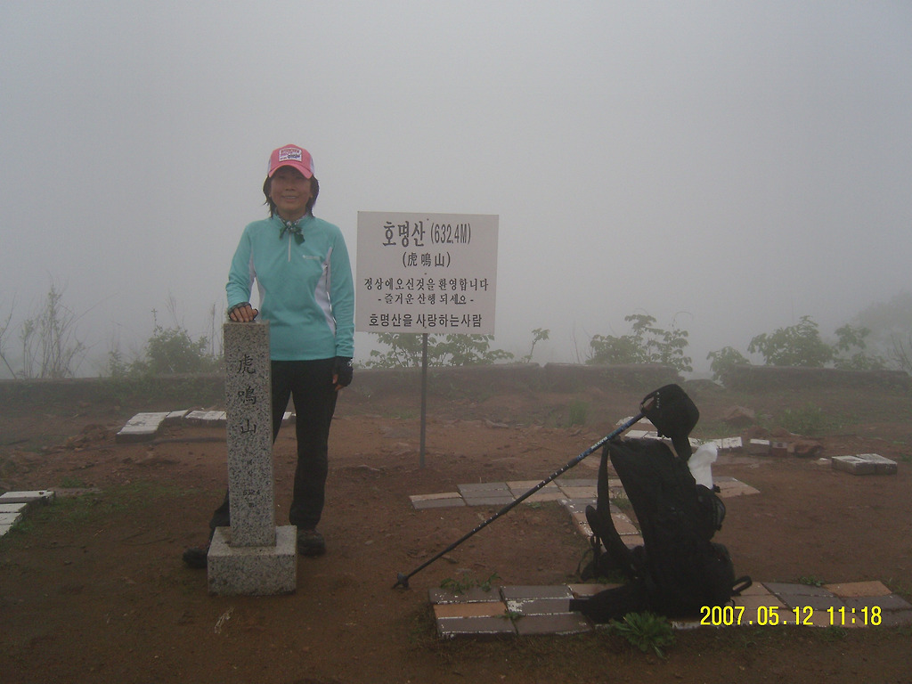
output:
MULTIPOLYGON (((633 415, 649 387, 573 393, 477 392, 428 404, 420 467, 420 398, 340 400, 321 530, 325 556, 300 558, 287 596, 210 596, 181 552, 206 538, 226 482, 221 430, 178 426, 151 443, 119 444, 133 414, 187 406, 6 406, 0 491, 55 489, 0 540, 0 681, 20 682, 909 682, 912 629, 704 628, 676 635, 667 658, 602 631, 574 637, 435 635, 428 590, 498 575, 500 585, 573 581, 586 541, 565 509, 522 504, 393 588, 397 574, 459 539, 496 509, 415 511, 410 494, 460 483, 541 480, 633 415), (568 427, 569 410, 585 425, 568 427), (89 490, 88 492, 85 492, 89 490), (83 492, 83 493, 78 493, 83 492)), ((732 392, 686 383, 700 408, 694 437, 747 434, 724 422, 752 409, 750 434, 794 441, 811 458, 735 452, 714 473, 760 490, 726 501, 716 541, 755 581, 879 580, 912 598, 912 396, 898 389, 785 388, 732 392), (788 412, 787 412, 788 411, 788 412), (824 425, 820 424, 821 416, 824 425), (804 435, 806 436, 806 435, 804 435), (892 476, 834 472, 820 456, 879 453, 892 476)), ((190 399, 192 401, 192 399, 190 399)), ((294 430, 275 445, 276 520, 285 524, 294 430)), ((591 456, 568 476, 595 477, 591 456)))

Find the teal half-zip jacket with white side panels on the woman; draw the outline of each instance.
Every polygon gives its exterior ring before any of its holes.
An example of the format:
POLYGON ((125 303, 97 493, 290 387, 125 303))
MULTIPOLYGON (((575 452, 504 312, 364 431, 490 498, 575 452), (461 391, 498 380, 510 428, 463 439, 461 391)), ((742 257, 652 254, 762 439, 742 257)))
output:
POLYGON ((244 228, 228 274, 228 307, 250 301, 269 321, 274 361, 355 356, 355 283, 342 232, 313 216, 286 232, 278 216, 244 228), (303 240, 301 240, 303 238, 303 240))

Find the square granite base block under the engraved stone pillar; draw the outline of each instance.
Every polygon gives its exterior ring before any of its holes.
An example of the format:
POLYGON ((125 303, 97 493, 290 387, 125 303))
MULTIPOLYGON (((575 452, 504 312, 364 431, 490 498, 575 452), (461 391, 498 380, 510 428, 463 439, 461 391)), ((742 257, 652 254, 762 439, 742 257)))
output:
POLYGON ((297 587, 297 528, 275 528, 275 546, 232 546, 218 527, 209 545, 209 593, 218 596, 291 594, 297 587))

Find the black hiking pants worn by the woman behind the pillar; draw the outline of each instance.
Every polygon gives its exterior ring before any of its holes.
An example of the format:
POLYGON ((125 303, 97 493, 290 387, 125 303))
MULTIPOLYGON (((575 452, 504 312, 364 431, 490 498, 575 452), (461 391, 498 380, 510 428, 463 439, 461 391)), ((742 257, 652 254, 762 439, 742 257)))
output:
MULTIPOLYGON (((316 361, 273 361, 273 441, 282 427, 288 399, 295 402, 297 467, 295 488, 288 522, 299 530, 316 528, 326 500, 326 473, 329 471, 329 426, 336 411, 337 392, 333 387, 335 359, 316 361)), ((212 514, 209 527, 231 524, 229 493, 212 514)))

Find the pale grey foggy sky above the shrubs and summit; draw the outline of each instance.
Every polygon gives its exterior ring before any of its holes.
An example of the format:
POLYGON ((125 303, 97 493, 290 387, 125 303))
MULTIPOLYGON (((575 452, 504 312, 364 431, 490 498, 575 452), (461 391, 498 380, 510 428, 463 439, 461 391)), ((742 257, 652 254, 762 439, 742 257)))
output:
POLYGON ((358 211, 498 214, 494 346, 542 363, 648 313, 700 370, 912 289, 904 0, 232 5, 0 5, 0 319, 62 285, 80 374, 170 297, 210 333, 286 143, 353 263, 358 211))

